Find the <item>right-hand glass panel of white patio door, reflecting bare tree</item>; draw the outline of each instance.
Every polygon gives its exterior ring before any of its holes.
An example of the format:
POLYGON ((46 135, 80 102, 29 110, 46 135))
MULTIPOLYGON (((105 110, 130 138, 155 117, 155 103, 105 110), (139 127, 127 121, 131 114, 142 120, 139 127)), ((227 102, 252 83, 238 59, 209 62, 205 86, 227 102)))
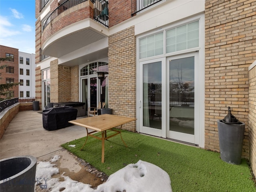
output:
POLYGON ((194 143, 194 56, 169 61, 169 137, 194 143))

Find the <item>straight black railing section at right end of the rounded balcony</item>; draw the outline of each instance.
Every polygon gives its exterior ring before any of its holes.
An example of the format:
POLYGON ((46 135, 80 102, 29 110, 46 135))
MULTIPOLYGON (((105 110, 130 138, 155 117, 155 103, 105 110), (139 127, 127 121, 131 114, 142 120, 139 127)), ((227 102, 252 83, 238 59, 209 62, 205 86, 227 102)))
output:
POLYGON ((93 2, 93 18, 102 25, 108 27, 108 1, 92 0, 93 2))

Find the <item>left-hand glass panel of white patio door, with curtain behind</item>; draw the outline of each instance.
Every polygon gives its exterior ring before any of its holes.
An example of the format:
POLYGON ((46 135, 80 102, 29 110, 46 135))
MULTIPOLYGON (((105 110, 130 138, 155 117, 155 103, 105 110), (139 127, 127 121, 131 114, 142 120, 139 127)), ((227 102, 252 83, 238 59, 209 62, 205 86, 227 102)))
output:
POLYGON ((142 128, 140 132, 162 136, 162 62, 142 65, 142 128))

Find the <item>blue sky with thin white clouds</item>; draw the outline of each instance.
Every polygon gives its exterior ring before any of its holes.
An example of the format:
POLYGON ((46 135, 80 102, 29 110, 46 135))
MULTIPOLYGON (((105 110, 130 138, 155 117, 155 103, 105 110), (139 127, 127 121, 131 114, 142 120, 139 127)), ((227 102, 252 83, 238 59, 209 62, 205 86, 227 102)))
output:
POLYGON ((0 0, 0 45, 35 53, 35 0, 0 0))

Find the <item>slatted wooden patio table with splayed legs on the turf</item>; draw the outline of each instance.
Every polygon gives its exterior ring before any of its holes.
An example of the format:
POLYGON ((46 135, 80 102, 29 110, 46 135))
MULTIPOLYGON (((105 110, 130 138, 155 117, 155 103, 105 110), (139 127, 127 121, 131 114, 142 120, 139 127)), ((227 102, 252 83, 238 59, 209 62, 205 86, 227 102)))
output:
MULTIPOLYGON (((105 140, 108 138, 114 137, 118 134, 120 134, 122 142, 127 147, 126 143, 124 142, 122 135, 121 135, 121 129, 122 125, 126 124, 128 122, 132 122, 136 120, 136 118, 128 118, 123 116, 116 116, 116 115, 110 115, 110 114, 103 114, 99 116, 93 116, 93 117, 87 117, 87 118, 80 118, 76 120, 69 121, 72 124, 79 125, 86 128, 87 137, 86 141, 84 142, 84 145, 86 144, 88 140, 88 136, 94 137, 96 139, 102 140, 102 154, 101 154, 101 162, 104 163, 104 144, 105 140), (114 127, 120 126, 119 130, 112 129, 114 127), (93 131, 88 132, 88 129, 91 129, 93 131), (116 133, 107 136, 106 131, 112 130, 116 133), (95 136, 92 133, 94 132, 101 132, 101 137, 95 136)), ((80 150, 83 149, 84 145, 80 150)))

